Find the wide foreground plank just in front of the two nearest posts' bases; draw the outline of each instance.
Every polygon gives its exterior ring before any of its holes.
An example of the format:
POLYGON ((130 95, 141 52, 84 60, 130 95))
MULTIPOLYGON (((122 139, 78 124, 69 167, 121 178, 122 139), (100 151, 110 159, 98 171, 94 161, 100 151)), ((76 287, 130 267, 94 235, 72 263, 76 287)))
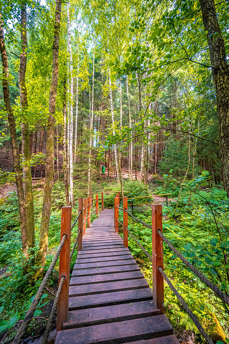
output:
POLYGON ((172 335, 173 327, 165 315, 63 330, 56 334, 56 344, 120 344, 127 341, 172 335))

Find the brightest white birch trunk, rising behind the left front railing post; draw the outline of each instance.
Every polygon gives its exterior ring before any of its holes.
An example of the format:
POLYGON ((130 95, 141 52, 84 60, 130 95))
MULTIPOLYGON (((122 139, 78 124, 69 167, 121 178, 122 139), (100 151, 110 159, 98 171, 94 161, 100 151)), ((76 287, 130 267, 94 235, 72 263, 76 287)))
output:
POLYGON ((70 32, 70 17, 69 17, 69 4, 67 4, 67 33, 69 39, 69 55, 70 55, 70 139, 69 139, 69 152, 70 152, 70 199, 72 206, 75 206, 74 194, 73 194, 73 77, 72 77, 72 45, 71 45, 71 32, 70 32))

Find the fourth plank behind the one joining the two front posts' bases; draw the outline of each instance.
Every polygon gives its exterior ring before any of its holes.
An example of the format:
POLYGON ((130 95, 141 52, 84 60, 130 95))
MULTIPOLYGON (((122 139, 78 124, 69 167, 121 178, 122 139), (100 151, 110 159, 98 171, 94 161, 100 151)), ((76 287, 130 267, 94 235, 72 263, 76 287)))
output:
POLYGON ((91 275, 101 275, 103 273, 117 273, 122 271, 138 271, 139 266, 136 264, 132 265, 118 265, 118 266, 103 266, 101 268, 91 268, 91 269, 79 269, 72 270, 72 276, 91 276, 91 275))

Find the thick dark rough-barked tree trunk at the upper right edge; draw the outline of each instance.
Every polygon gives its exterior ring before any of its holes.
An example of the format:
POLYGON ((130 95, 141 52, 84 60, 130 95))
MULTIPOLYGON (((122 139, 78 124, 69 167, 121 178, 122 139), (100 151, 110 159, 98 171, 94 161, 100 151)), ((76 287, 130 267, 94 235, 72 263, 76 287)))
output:
POLYGON ((207 39, 217 99, 220 153, 229 198, 229 69, 214 0, 200 0, 200 7, 204 28, 208 31, 207 39))

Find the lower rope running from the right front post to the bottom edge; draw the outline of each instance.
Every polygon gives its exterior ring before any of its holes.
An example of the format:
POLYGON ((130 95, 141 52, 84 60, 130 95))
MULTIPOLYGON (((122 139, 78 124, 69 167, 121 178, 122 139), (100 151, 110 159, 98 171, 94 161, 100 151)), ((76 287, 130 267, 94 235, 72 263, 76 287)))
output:
POLYGON ((173 286, 173 284, 171 283, 171 281, 169 280, 169 278, 167 277, 167 275, 165 274, 164 270, 162 269, 162 267, 158 267, 158 270, 160 271, 160 273, 162 274, 164 280, 168 283, 168 286, 171 288, 171 290, 173 290, 174 294, 176 295, 177 299, 179 300, 179 302, 182 304, 183 308, 185 309, 185 311, 188 313, 188 315, 190 316, 191 320, 194 322, 194 324, 196 325, 199 333, 202 335, 202 337, 204 337, 204 339, 206 340, 206 342, 208 344, 213 344, 213 341, 211 340, 211 338, 209 337, 209 335, 205 332, 204 328, 202 327, 202 325, 199 323, 199 320, 197 319, 196 315, 192 313, 192 311, 190 310, 190 308, 188 307, 187 303, 185 302, 185 300, 183 299, 183 297, 178 293, 177 289, 173 286))

